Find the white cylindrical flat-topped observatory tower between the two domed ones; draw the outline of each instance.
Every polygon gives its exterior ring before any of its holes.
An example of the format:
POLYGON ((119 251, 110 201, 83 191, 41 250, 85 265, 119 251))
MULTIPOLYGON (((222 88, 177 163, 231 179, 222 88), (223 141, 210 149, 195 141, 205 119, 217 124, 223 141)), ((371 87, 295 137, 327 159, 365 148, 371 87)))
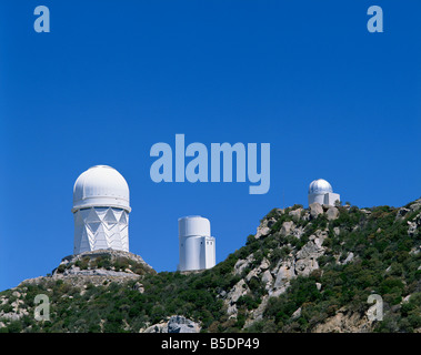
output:
POLYGON ((215 264, 215 244, 210 222, 200 215, 179 219, 179 271, 204 270, 215 264))

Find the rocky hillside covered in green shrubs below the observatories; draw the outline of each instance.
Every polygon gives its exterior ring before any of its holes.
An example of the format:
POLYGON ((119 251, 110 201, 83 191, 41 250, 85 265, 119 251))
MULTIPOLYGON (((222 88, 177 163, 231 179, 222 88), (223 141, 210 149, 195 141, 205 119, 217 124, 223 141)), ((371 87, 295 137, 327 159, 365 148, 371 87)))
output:
POLYGON ((421 332, 421 200, 270 211, 211 270, 156 273, 134 254, 64 257, 0 293, 1 332, 421 332), (33 320, 34 296, 50 321, 33 320), (372 320, 375 294, 382 321, 372 320))

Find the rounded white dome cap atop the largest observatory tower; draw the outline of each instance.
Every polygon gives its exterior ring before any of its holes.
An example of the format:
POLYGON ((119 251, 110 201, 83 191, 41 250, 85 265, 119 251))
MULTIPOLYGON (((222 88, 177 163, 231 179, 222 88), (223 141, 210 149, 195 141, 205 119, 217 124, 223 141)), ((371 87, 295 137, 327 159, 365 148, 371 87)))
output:
POLYGON ((83 172, 76 181, 72 212, 91 206, 109 206, 131 211, 129 185, 116 169, 108 165, 96 165, 83 172))

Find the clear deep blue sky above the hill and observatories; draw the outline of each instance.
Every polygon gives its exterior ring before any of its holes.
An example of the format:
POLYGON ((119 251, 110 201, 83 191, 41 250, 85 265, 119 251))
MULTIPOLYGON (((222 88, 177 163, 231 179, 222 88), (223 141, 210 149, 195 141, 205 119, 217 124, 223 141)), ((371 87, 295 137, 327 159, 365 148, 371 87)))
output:
POLYGON ((210 219, 220 262, 318 178, 361 207, 420 197, 420 17, 419 0, 2 1, 0 290, 72 253, 73 183, 97 164, 128 181, 130 251, 157 271, 177 267, 178 217, 210 219), (270 143, 269 193, 153 183, 149 150, 176 133, 270 143))

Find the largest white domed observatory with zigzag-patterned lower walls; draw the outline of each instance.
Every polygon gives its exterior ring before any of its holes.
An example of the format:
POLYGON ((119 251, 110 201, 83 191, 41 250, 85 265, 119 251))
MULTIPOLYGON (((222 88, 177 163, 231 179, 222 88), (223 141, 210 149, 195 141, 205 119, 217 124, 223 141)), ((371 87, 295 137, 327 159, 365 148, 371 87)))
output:
POLYGON ((129 251, 129 186, 113 168, 96 165, 73 186, 73 254, 112 248, 129 251))

